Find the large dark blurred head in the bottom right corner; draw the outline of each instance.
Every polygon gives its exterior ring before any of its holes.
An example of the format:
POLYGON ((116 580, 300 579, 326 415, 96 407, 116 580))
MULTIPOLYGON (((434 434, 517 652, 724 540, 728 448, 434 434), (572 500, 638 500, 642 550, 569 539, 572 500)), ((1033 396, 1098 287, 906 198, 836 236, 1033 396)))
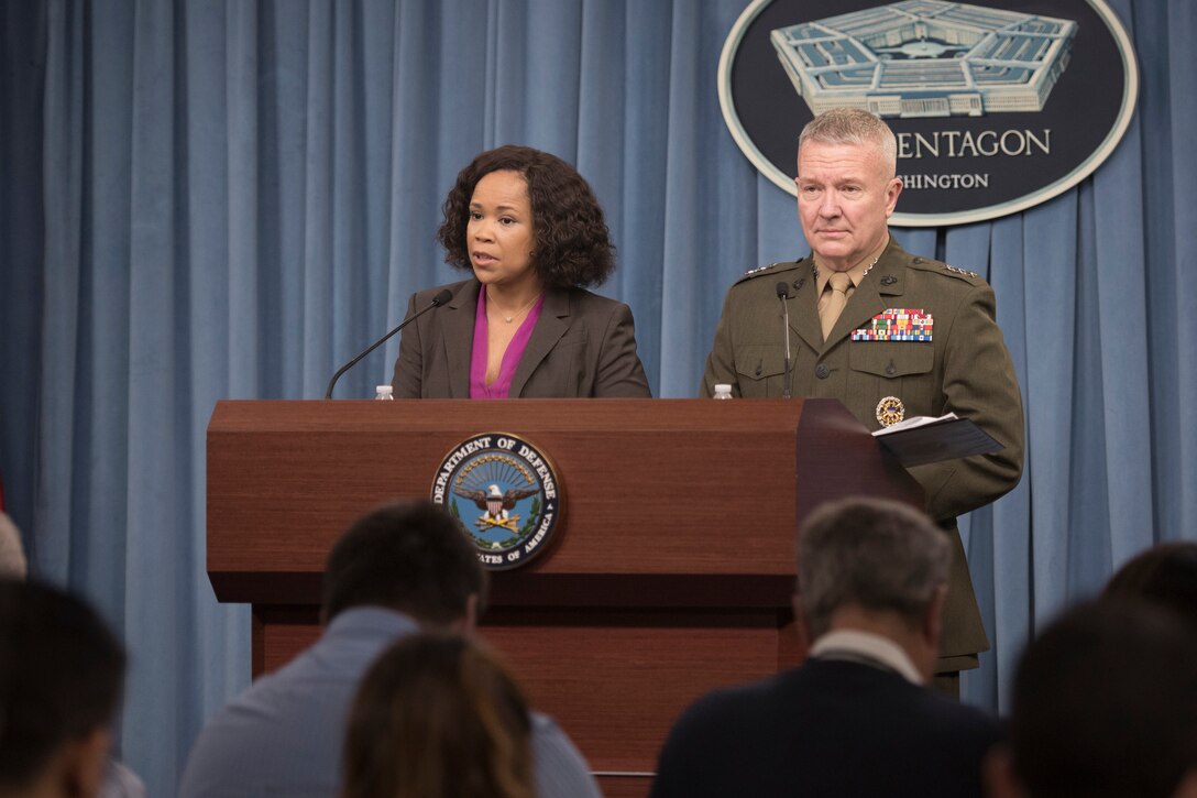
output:
POLYGON ((1136 600, 1065 612, 1022 654, 997 798, 1175 798, 1197 787, 1197 636, 1136 600))

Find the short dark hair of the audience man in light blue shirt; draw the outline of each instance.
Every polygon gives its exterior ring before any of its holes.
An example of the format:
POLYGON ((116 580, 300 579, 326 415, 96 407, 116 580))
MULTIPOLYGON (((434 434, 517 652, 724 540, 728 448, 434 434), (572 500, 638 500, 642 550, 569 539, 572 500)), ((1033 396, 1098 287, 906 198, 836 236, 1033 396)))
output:
POLYGON ((341 536, 324 569, 324 619, 383 606, 432 627, 472 627, 486 573, 461 525, 430 501, 384 504, 341 536))

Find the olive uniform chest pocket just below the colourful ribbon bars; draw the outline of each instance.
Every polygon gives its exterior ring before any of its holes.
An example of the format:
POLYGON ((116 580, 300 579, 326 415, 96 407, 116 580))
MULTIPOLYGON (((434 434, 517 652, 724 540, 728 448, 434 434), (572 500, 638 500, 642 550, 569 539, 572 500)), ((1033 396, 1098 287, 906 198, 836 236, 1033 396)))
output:
MULTIPOLYGON (((852 341, 847 353, 850 393, 865 404, 897 397, 906 418, 938 415, 935 347, 924 341, 852 341)), ((940 403, 941 404, 941 403, 940 403)))

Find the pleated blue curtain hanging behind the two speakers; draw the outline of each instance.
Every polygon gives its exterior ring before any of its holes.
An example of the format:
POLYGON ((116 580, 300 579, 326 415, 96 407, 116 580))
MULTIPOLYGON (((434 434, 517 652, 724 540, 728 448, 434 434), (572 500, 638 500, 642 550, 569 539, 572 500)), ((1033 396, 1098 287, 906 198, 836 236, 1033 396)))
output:
MULTIPOLYGON (((962 527, 994 641, 964 689, 992 708, 1037 624, 1197 537, 1197 6, 1111 5, 1142 68, 1111 159, 1023 213, 897 231, 994 284, 1025 394, 1026 476, 962 527)), ((248 682, 248 615, 203 572, 214 403, 321 397, 451 279, 433 231, 476 152, 529 144, 594 183, 620 255, 603 290, 657 395, 694 395, 737 274, 806 252, 719 114, 743 7, 0 4, 0 477, 35 569, 128 641, 121 755, 151 794, 248 682)), ((372 395, 395 353, 338 397, 372 395)))

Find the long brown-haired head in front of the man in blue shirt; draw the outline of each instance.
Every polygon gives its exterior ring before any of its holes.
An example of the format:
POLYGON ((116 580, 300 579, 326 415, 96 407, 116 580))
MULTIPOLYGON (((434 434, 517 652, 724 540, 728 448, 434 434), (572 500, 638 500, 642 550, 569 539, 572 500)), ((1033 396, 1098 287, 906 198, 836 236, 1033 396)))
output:
POLYGON ((414 635, 358 690, 341 798, 533 798, 530 736, 528 702, 484 646, 414 635))

